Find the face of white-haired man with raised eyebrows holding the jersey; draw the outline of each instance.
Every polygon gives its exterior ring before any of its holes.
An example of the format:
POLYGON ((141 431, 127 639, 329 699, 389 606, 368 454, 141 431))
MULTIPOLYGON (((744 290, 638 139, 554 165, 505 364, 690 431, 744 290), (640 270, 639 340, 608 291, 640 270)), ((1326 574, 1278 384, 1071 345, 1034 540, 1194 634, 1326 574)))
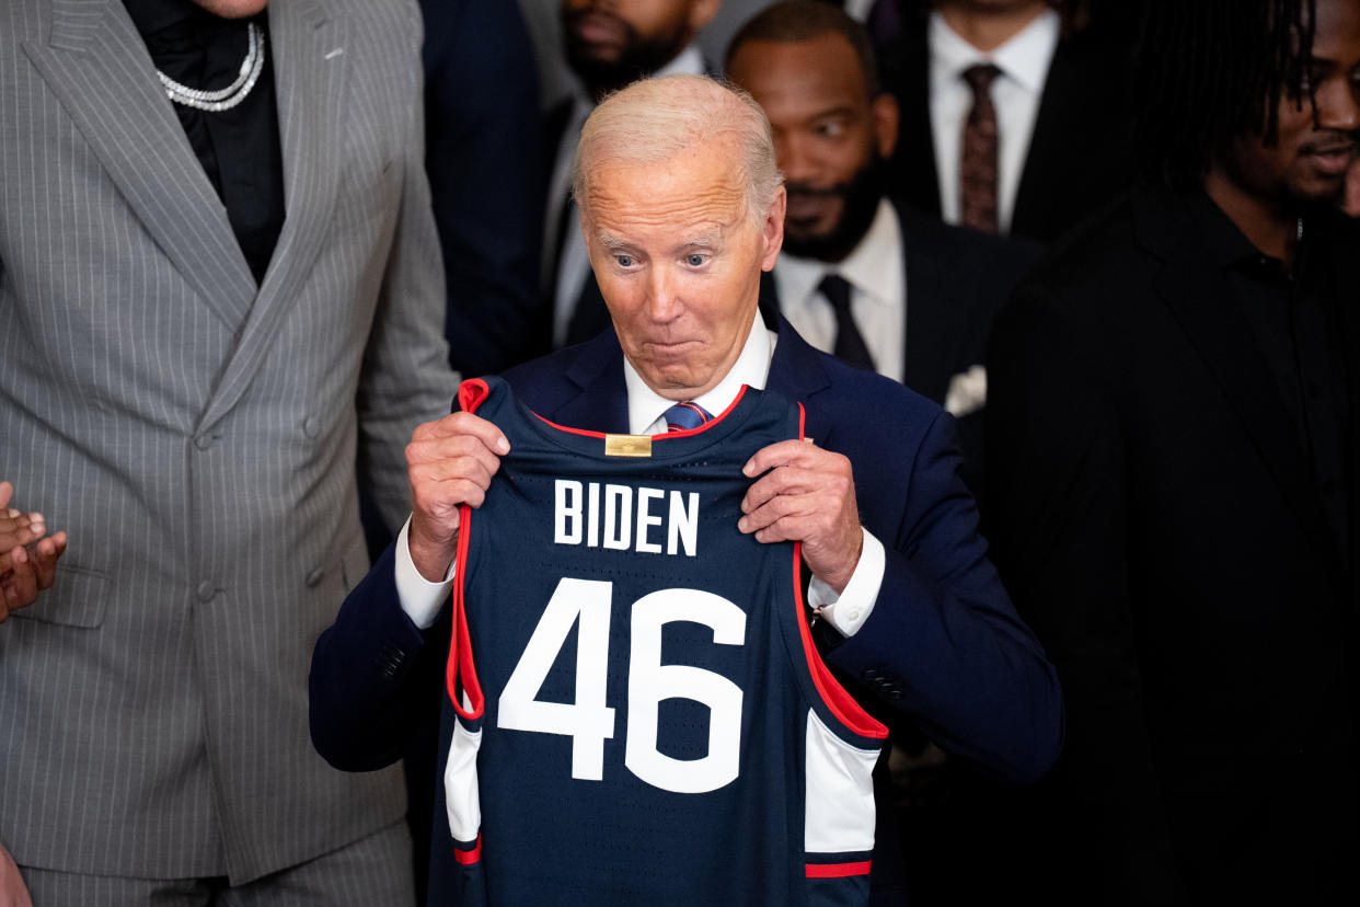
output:
POLYGON ((732 141, 649 165, 602 163, 581 216, 590 267, 624 355, 668 400, 728 374, 783 235, 783 192, 756 222, 732 141))

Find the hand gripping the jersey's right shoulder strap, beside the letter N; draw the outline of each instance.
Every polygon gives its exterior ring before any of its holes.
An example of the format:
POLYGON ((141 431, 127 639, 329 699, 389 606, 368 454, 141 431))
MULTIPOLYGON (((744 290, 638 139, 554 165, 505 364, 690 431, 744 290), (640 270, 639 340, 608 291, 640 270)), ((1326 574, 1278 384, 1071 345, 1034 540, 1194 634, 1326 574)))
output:
POLYGON ((845 592, 864 549, 850 461, 808 441, 781 441, 741 470, 768 473, 747 490, 737 529, 756 541, 801 541, 812 575, 845 592))

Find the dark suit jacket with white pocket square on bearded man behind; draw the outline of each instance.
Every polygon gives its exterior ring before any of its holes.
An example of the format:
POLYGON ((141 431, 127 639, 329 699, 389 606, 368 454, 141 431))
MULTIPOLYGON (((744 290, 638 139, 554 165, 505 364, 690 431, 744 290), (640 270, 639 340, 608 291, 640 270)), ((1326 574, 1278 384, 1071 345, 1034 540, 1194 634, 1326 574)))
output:
MULTIPOLYGON (((895 208, 902 223, 907 320, 903 374, 892 377, 944 405, 949 381, 982 364, 991 318, 1040 247, 952 227, 903 205, 895 208)), ((770 273, 760 277, 760 306, 767 317, 779 310, 779 291, 770 273)), ((963 480, 985 510, 982 409, 963 415, 956 424, 963 480)))

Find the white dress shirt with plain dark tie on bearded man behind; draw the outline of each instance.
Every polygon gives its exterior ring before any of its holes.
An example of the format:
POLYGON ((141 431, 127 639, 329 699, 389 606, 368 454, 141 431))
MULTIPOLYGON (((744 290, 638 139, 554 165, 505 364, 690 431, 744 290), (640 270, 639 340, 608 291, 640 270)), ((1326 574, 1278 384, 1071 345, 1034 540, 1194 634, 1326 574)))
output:
POLYGON ((868 233, 845 261, 830 264, 783 253, 774 267, 779 311, 804 340, 823 352, 832 352, 836 344, 836 314, 817 290, 828 273, 838 273, 850 283, 850 314, 877 373, 902 381, 906 374, 907 277, 902 222, 892 203, 879 201, 868 233))

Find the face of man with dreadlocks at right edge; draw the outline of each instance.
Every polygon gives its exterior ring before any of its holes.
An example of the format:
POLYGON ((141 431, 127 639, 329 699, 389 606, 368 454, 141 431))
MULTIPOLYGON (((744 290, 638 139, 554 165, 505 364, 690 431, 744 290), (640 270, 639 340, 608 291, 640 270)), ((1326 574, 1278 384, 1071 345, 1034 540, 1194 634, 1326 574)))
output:
POLYGON ((1345 189, 1360 131, 1360 0, 1318 0, 1312 60, 1306 68, 1316 101, 1304 92, 1302 109, 1280 101, 1280 137, 1236 139, 1227 170, 1248 194, 1284 209, 1336 201, 1345 189))

